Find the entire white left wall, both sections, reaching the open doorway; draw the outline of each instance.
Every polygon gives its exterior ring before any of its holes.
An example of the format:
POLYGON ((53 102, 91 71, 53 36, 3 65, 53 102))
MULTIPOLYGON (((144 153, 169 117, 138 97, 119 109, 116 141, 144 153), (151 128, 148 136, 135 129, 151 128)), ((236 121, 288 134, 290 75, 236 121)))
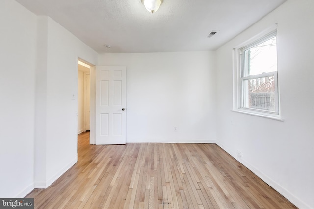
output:
POLYGON ((0 197, 24 197, 77 161, 78 58, 98 57, 12 0, 0 1, 0 30, 0 197))

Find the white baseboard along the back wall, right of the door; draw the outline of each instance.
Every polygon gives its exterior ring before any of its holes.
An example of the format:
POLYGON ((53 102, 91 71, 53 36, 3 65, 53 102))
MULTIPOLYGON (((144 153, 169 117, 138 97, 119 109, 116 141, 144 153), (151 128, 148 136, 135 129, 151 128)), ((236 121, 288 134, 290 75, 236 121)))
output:
POLYGON ((127 139, 127 143, 197 143, 197 144, 215 144, 216 140, 210 140, 210 139, 127 139))

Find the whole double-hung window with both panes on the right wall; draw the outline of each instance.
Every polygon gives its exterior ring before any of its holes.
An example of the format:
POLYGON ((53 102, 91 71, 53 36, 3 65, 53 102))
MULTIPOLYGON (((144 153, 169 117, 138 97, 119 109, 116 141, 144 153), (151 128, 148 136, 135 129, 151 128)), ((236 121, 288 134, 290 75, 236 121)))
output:
POLYGON ((277 31, 239 48, 238 109, 279 116, 277 31))

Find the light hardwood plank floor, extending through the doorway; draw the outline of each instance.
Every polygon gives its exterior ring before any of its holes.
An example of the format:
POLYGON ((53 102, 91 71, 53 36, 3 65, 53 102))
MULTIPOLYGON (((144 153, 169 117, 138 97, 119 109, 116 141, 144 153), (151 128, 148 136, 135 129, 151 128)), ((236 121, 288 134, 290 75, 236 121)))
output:
POLYGON ((78 135, 78 163, 47 189, 38 209, 296 208, 215 144, 89 145, 78 135))

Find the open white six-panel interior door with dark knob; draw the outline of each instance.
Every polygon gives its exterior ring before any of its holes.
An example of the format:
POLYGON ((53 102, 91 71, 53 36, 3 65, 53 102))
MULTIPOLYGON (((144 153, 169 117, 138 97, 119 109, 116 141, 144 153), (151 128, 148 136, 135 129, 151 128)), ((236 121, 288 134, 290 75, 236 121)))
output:
POLYGON ((96 144, 126 143, 126 67, 96 66, 96 144))

